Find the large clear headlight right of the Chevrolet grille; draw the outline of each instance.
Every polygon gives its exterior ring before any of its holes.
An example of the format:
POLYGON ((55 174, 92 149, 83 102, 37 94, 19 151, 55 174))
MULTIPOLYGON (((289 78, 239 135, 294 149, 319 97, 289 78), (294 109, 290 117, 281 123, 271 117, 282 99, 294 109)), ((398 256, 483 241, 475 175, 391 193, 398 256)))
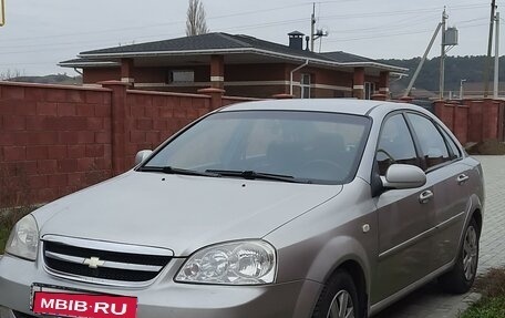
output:
POLYGON ((224 243, 203 248, 179 269, 175 281, 221 285, 274 283, 276 250, 264 240, 224 243))

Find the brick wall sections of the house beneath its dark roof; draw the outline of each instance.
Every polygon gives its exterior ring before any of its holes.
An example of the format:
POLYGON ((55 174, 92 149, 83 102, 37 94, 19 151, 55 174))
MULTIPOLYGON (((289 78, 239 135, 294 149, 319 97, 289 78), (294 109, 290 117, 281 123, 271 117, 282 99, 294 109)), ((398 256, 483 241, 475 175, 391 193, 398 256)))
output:
MULTIPOLYGON (((266 99, 290 92, 290 72, 298 64, 227 64, 225 65, 224 89, 229 95, 266 99)), ((121 80, 117 69, 85 69, 84 83, 92 84, 105 80, 121 80)), ((293 74, 293 95, 300 96, 300 76, 302 73, 312 75, 312 98, 351 98, 353 73, 321 68, 307 66, 293 74)), ((169 91, 177 93, 196 93, 199 89, 210 85, 210 69, 208 65, 177 68, 135 68, 133 70, 135 88, 150 91, 169 91), (195 82, 168 84, 167 74, 171 70, 193 70, 195 82)), ((365 81, 374 82, 379 88, 378 76, 367 76, 365 81)))

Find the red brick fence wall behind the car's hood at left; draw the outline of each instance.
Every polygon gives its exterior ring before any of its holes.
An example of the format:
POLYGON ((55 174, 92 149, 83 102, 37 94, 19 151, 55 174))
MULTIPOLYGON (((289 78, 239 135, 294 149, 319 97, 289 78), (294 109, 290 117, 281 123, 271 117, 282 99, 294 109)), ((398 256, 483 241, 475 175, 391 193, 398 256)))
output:
POLYGON ((0 82, 0 207, 55 199, 131 168, 134 155, 248 99, 0 82))

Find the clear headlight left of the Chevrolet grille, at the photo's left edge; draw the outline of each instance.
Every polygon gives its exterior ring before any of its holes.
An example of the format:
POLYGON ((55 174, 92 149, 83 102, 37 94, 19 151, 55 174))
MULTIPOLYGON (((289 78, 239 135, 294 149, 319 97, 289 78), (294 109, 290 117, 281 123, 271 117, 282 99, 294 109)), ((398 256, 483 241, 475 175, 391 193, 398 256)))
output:
POLYGON ((39 228, 35 218, 27 215, 21 218, 12 228, 7 240, 6 252, 29 260, 37 259, 39 247, 39 228))

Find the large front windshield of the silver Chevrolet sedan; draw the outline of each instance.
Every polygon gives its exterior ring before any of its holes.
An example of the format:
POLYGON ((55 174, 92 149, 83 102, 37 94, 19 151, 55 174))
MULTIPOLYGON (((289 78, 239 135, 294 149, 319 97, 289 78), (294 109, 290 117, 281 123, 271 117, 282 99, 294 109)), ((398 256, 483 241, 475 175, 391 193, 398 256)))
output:
POLYGON ((354 177, 369 126, 368 117, 338 113, 220 112, 179 134, 141 170, 342 184, 354 177))

